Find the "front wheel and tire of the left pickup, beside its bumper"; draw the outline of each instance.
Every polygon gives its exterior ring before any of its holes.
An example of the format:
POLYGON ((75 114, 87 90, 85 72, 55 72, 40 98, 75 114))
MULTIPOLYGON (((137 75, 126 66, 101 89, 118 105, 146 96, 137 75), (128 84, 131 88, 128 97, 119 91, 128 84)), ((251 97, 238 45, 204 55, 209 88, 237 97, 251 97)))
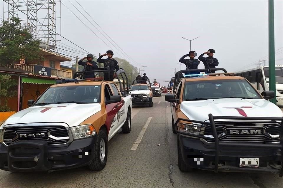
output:
POLYGON ((91 164, 88 165, 89 169, 93 171, 102 170, 107 162, 107 154, 108 154, 107 133, 105 129, 101 129, 99 130, 98 135, 96 137, 96 141, 94 145, 94 155, 91 164), (101 149, 102 151, 104 151, 103 153, 101 153, 101 149))

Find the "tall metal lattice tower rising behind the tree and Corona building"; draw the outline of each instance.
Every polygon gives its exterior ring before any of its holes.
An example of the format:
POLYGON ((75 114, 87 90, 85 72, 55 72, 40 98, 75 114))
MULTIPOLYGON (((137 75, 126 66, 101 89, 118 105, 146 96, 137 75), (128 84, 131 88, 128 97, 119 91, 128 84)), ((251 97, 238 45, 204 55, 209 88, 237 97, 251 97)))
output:
POLYGON ((4 2, 4 19, 12 16, 20 18, 25 26, 31 28, 32 34, 42 40, 42 48, 56 51, 56 35, 61 34, 61 0, 6 1, 11 5, 4 2))

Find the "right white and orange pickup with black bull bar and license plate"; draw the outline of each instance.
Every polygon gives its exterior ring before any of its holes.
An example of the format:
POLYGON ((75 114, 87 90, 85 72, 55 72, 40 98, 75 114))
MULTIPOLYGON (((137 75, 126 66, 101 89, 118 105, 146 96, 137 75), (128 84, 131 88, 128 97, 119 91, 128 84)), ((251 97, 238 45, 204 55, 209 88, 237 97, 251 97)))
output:
MULTIPOLYGON (((208 69, 195 69, 204 72, 208 69)), ((195 71, 192 70, 192 71, 195 71)), ((177 134, 178 167, 214 172, 283 175, 283 113, 240 76, 224 73, 176 76, 175 94, 165 95, 177 134)))

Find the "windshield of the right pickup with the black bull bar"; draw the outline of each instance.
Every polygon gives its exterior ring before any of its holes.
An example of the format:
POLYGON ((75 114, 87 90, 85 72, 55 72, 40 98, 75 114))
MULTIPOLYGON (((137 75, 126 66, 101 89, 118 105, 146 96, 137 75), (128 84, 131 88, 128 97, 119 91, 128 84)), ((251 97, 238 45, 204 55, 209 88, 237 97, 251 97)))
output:
POLYGON ((246 80, 207 80, 187 82, 184 100, 217 98, 261 99, 259 93, 246 80))

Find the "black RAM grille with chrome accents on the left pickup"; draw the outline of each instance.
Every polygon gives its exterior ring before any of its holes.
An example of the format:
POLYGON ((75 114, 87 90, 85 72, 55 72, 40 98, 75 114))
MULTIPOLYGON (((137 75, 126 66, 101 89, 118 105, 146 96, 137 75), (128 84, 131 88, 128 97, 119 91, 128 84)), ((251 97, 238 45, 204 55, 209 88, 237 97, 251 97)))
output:
POLYGON ((45 140, 48 145, 57 145, 66 144, 70 137, 66 127, 61 125, 13 125, 4 128, 4 143, 6 145, 24 140, 45 140))

